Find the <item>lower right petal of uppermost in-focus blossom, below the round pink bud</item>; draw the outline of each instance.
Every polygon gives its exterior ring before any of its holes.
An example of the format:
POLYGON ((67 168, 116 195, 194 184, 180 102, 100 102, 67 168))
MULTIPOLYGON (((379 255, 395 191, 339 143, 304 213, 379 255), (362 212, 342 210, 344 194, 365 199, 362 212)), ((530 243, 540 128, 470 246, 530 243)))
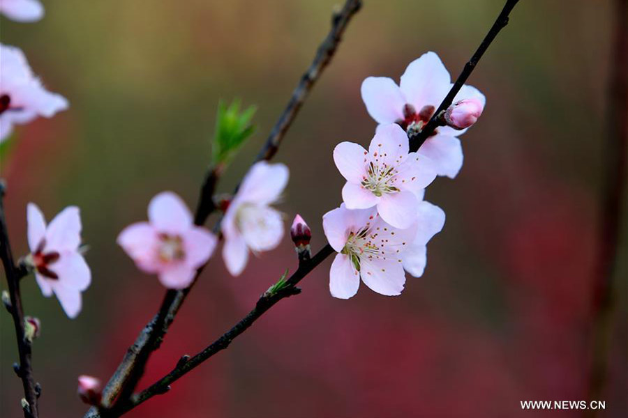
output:
POLYGON ((435 135, 428 138, 417 153, 432 160, 438 176, 454 178, 462 168, 462 144, 458 138, 435 135))

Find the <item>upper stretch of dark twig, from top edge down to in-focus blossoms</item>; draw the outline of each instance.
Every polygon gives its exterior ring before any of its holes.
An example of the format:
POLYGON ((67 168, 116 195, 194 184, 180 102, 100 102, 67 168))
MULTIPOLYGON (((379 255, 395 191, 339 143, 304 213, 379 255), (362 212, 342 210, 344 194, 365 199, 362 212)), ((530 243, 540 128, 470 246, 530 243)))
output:
POLYGON ((493 23, 493 26, 491 26, 491 29, 484 37, 484 40, 482 40, 481 44, 476 49, 469 62, 465 64, 465 68, 463 68, 460 75, 458 75, 458 79, 456 79, 456 82, 454 82, 454 86, 451 87, 451 90, 449 91, 449 93, 447 93, 447 96, 445 96, 438 109, 436 109, 430 121, 427 123, 427 125, 425 125, 425 128, 423 130, 410 137, 410 152, 418 150, 419 147, 423 145, 426 139, 428 139, 430 135, 434 132, 434 130, 438 127, 438 119, 441 112, 447 110, 447 107, 451 106, 451 102, 454 101, 456 94, 458 94, 458 91, 460 91, 462 86, 465 84, 465 82, 473 72, 475 66, 481 59, 482 55, 484 55, 486 49, 488 49, 488 47, 491 45, 491 42, 493 42, 493 40, 495 39, 495 36, 498 36, 498 33, 500 33, 504 26, 508 24, 508 15, 518 1, 519 0, 506 1, 502 12, 495 20, 495 23, 493 23))

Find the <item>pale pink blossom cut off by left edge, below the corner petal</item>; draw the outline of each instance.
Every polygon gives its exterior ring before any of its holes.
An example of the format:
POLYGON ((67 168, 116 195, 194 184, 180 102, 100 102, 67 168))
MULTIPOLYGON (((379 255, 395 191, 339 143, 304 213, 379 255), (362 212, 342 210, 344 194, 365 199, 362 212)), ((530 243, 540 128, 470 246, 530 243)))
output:
POLYGON ((33 75, 19 48, 0 45, 0 142, 14 124, 29 123, 37 116, 50 118, 67 108, 63 96, 47 91, 33 75))

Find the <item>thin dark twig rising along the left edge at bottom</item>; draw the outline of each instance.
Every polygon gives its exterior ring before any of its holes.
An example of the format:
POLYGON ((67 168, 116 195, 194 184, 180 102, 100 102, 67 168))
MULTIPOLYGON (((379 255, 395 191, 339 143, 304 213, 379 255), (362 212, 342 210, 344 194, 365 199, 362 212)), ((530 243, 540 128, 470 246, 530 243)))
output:
POLYGON ((20 274, 25 273, 17 270, 13 254, 11 253, 8 230, 6 228, 6 217, 4 213, 4 192, 5 185, 0 180, 0 258, 6 273, 8 292, 10 295, 10 314, 15 325, 15 336, 17 338, 17 351, 20 354, 20 364, 15 368, 15 373, 22 379, 24 387, 24 399, 27 405, 22 405, 24 417, 37 418, 38 405, 37 398, 40 389, 33 379, 33 369, 31 366, 31 343, 24 338, 24 310, 22 309, 22 296, 20 295, 20 274))

